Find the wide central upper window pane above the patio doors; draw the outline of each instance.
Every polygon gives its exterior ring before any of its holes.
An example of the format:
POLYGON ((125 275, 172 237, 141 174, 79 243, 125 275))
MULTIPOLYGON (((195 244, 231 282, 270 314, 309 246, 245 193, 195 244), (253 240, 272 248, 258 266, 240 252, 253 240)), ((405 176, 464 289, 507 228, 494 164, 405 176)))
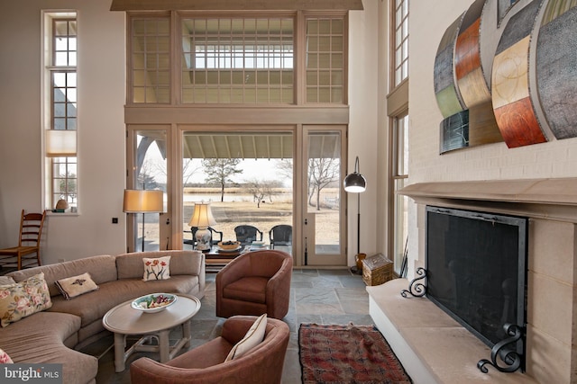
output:
POLYGON ((185 18, 182 103, 293 103, 292 18, 185 18))

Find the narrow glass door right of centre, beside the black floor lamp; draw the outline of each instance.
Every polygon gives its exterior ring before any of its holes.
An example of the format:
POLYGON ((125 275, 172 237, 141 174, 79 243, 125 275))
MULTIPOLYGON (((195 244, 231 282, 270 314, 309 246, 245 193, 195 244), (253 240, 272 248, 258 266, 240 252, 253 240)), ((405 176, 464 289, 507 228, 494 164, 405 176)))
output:
POLYGON ((343 205, 345 127, 304 127, 305 265, 346 265, 343 205))

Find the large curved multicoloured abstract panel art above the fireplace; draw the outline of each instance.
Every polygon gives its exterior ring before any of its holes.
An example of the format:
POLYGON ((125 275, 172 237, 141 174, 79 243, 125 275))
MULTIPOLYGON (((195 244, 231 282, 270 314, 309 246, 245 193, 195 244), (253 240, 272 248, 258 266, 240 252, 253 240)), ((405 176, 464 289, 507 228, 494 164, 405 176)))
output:
POLYGON ((577 0, 475 1, 445 31, 434 76, 441 153, 577 137, 577 0))

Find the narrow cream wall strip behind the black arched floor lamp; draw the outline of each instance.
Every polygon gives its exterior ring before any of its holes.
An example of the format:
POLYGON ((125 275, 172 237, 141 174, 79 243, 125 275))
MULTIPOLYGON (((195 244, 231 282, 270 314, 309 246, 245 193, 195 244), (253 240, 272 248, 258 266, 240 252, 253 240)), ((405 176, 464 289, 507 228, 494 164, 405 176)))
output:
MULTIPOLYGON (((379 64, 379 0, 364 0, 364 11, 349 13, 349 173, 359 156, 359 171, 367 179, 361 193, 361 249, 367 255, 377 252, 378 116, 379 101, 386 90, 377 82, 379 64), (381 97, 379 97, 381 96, 381 97)), ((382 108, 382 107, 381 107, 382 108)), ((357 253, 357 194, 348 193, 348 265, 357 253)))

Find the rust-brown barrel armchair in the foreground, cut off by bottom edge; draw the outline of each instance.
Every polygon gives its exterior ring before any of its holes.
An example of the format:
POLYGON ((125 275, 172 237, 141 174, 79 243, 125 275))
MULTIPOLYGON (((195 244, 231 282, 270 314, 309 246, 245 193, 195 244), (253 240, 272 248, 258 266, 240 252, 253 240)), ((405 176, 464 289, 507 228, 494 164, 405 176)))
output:
POLYGON ((155 362, 142 357, 130 366, 133 383, 280 383, 282 366, 289 344, 289 326, 274 318, 267 319, 264 340, 243 357, 224 362, 234 344, 252 326, 256 317, 236 316, 227 319, 222 335, 183 353, 169 362, 155 362))

